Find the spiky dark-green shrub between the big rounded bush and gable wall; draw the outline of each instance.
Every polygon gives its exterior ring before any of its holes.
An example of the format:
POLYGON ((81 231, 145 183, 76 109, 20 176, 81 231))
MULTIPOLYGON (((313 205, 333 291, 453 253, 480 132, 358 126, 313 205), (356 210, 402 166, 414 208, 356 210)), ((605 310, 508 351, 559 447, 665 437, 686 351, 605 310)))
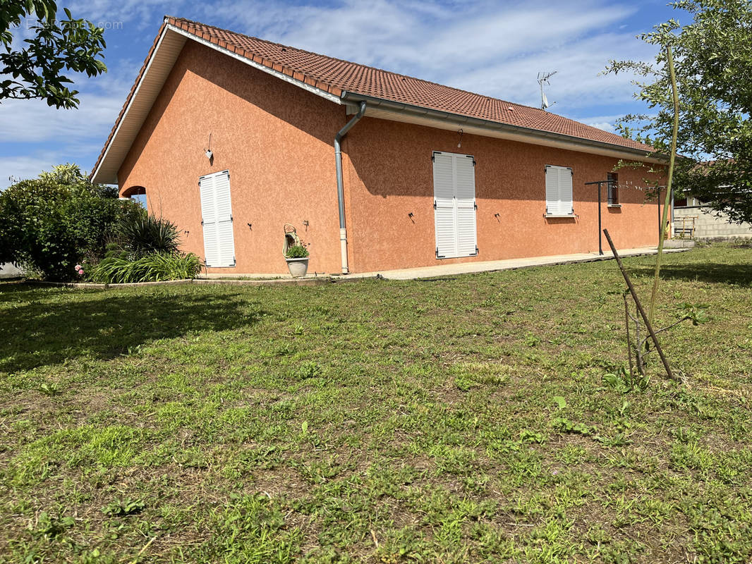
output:
POLYGON ((171 221, 142 214, 120 222, 117 240, 123 250, 139 258, 150 253, 177 253, 180 233, 171 221))

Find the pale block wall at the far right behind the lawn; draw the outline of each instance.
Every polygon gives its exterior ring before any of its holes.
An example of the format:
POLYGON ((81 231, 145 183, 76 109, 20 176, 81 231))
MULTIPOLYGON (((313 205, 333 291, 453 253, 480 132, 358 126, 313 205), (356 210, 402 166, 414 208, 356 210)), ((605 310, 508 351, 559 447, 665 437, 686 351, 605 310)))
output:
POLYGON ((733 223, 722 211, 696 198, 676 199, 673 207, 675 237, 696 239, 752 237, 752 224, 733 223))

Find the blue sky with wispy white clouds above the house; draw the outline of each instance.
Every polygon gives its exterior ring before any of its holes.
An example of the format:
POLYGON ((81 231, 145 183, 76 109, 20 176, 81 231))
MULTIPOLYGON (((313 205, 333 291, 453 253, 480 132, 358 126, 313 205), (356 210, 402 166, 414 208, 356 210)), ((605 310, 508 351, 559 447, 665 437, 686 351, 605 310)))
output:
MULTIPOLYGON (((0 104, 0 188, 60 162, 91 170, 162 17, 170 14, 386 68, 487 96, 539 104, 538 71, 557 71, 550 111, 613 130, 642 112, 628 76, 599 75, 609 59, 652 59, 635 38, 677 14, 663 2, 59 2, 104 27, 101 77, 77 77, 80 108, 0 104)), ((15 41, 23 39, 23 29, 15 41)))

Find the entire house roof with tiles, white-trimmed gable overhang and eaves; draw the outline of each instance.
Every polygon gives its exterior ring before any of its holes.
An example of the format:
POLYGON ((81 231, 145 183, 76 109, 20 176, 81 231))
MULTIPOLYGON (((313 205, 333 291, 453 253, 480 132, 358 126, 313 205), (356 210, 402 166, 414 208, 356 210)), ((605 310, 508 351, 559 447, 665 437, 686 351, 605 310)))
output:
MULTIPOLYGON (((482 129, 494 129, 498 126, 498 129, 504 130, 508 138, 546 137, 569 144, 581 143, 591 147, 603 147, 612 152, 621 150, 631 156, 637 156, 638 153, 642 156, 653 153, 651 147, 632 141, 632 139, 623 138, 538 108, 505 102, 428 80, 311 53, 183 18, 165 17, 159 35, 141 67, 136 83, 97 160, 92 173, 94 180, 117 181, 117 179, 112 180, 113 170, 114 174, 117 174, 117 168, 120 168, 130 143, 135 139, 138 129, 148 114, 148 109, 156 99, 186 38, 208 44, 256 68, 311 89, 332 102, 356 104, 365 100, 373 103, 381 111, 374 112, 373 115, 376 117, 386 117, 389 113, 393 115, 396 112, 406 111, 411 114, 411 119, 400 118, 400 120, 414 123, 422 123, 420 120, 440 120, 444 122, 444 129, 456 129, 464 126, 465 123, 470 127, 482 129), (150 74, 156 74, 155 80, 148 80, 150 74), (147 87, 142 94, 141 89, 144 83, 147 87), (139 98, 139 94, 142 94, 141 104, 136 105, 134 104, 135 98, 139 98), (134 105, 136 106, 135 118, 129 120, 131 123, 120 135, 123 126, 126 125, 124 122, 128 121, 126 118, 134 105), (447 127, 448 124, 450 127, 447 127), (111 159, 112 162, 108 163, 108 171, 100 174, 103 161, 108 157, 113 144, 118 144, 120 147, 115 151, 117 155, 111 159), (114 168, 115 166, 117 168, 114 168)), ((366 115, 369 114, 366 113, 366 115)), ((465 130, 465 132, 475 131, 465 130)), ((484 133, 481 132, 481 135, 484 133)), ((553 144, 553 141, 547 144, 553 144)))

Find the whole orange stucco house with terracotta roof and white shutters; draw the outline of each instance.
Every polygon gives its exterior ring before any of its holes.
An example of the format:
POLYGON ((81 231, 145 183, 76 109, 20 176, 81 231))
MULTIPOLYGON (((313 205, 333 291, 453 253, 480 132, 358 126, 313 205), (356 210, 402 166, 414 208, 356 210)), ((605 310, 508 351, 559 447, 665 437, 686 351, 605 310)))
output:
POLYGON ((356 273, 657 242, 650 147, 582 123, 165 17, 92 180, 146 193, 209 273, 356 273), (211 157, 211 158, 210 158, 211 157), (608 195, 607 195, 608 193, 608 195))

